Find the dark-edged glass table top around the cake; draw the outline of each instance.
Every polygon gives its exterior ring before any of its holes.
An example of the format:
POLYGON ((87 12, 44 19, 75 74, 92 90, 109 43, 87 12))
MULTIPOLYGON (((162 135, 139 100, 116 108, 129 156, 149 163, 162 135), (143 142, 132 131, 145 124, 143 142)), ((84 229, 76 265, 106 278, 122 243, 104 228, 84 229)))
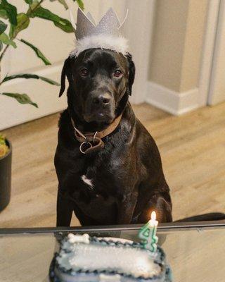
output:
MULTIPOLYGON (((49 265, 62 235, 139 240, 140 225, 77 228, 0 229, 0 281, 47 282, 49 265)), ((158 227, 159 245, 167 253, 174 281, 225 281, 225 222, 167 223, 158 227)))

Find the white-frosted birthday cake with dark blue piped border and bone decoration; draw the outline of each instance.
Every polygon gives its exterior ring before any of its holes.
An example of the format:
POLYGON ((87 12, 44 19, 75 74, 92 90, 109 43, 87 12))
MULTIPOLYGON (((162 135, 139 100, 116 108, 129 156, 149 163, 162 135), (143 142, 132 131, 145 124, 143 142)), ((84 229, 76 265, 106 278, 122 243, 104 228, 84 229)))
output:
POLYGON ((171 282, 161 247, 153 253, 141 243, 70 233, 51 262, 51 282, 171 282))

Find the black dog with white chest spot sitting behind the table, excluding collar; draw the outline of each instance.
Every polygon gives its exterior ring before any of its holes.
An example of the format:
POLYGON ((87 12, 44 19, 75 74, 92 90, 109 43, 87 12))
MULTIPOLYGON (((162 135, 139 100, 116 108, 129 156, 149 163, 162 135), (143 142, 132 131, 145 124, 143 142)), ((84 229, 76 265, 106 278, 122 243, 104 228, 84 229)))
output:
POLYGON ((68 78, 68 109, 60 117, 55 166, 58 176, 57 226, 70 226, 72 211, 82 225, 172 221, 169 187, 153 137, 128 102, 135 67, 131 55, 89 49, 69 56, 63 66, 60 95, 68 78), (82 154, 75 136, 104 130, 105 146, 82 154))

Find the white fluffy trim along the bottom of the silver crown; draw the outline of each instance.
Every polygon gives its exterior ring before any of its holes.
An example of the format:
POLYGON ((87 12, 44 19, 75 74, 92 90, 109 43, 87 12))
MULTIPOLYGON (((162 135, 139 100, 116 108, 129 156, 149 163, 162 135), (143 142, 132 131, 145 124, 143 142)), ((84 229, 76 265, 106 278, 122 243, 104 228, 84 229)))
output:
POLYGON ((77 40, 76 43, 75 50, 70 53, 71 56, 78 56, 82 51, 91 48, 110 49, 123 55, 128 53, 127 39, 122 36, 91 35, 77 40))

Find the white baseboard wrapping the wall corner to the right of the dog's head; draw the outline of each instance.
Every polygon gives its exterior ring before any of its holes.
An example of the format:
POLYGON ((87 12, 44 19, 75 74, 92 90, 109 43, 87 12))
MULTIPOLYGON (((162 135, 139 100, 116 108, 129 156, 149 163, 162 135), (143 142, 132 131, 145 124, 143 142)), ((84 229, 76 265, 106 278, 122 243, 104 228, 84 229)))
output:
POLYGON ((178 93, 154 82, 147 83, 146 102, 175 116, 197 109, 198 88, 178 93))

